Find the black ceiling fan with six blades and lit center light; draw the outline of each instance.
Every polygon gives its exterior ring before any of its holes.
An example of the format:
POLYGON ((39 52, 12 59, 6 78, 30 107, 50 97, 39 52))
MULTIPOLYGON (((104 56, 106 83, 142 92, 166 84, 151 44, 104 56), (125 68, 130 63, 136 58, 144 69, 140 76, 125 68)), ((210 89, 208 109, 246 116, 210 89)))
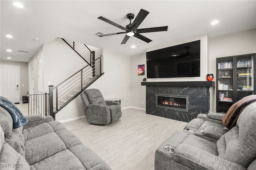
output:
POLYGON ((112 36, 112 35, 117 35, 117 34, 126 34, 121 44, 125 44, 131 36, 134 36, 134 37, 136 37, 136 38, 138 38, 138 39, 140 39, 144 42, 149 43, 152 40, 142 36, 140 33, 167 31, 168 26, 137 29, 148 14, 149 14, 148 11, 140 9, 139 14, 136 16, 136 18, 134 19, 133 22, 131 22, 131 20, 134 18, 134 14, 132 14, 132 13, 127 14, 126 17, 130 20, 130 24, 128 24, 126 27, 120 26, 119 24, 116 24, 116 23, 100 16, 100 17, 98 17, 98 19, 100 19, 102 21, 105 21, 105 22, 107 22, 107 23, 109 23, 113 26, 116 26, 116 27, 124 30, 125 32, 117 32, 117 33, 112 33, 112 34, 103 34, 103 35, 98 35, 98 36, 99 37, 104 37, 104 36, 112 36))

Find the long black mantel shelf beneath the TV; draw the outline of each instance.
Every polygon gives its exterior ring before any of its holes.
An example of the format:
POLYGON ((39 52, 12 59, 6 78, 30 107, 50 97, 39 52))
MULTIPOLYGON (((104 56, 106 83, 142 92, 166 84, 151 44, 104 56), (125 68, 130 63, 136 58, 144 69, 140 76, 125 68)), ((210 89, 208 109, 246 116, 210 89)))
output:
POLYGON ((182 87, 214 87, 215 81, 164 81, 164 82, 141 82, 146 86, 182 86, 182 87))

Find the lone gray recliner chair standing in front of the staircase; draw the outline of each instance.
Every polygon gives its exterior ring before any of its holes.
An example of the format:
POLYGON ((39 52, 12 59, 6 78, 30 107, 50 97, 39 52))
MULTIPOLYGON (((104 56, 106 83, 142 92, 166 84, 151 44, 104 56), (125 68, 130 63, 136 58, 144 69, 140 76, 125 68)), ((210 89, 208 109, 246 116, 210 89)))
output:
POLYGON ((105 99, 98 89, 88 89, 81 93, 86 119, 89 123, 108 125, 122 117, 119 102, 105 99))

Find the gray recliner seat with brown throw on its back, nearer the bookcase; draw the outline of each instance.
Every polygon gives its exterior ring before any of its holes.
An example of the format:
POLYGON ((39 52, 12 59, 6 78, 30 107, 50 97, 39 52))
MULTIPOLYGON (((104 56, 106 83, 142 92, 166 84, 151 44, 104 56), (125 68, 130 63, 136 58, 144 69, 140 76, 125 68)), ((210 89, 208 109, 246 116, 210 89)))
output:
POLYGON ((256 95, 249 95, 234 103, 226 115, 214 112, 199 114, 184 127, 184 131, 216 143, 223 134, 234 127, 243 109, 255 101, 256 95))

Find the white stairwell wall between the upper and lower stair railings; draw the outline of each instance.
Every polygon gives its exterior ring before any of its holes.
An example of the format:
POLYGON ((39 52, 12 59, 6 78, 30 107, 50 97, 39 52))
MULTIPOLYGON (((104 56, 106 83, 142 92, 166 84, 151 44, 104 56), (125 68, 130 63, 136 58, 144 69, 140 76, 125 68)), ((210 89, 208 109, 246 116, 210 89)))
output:
POLYGON ((88 63, 70 48, 61 38, 44 45, 44 92, 48 93, 48 82, 58 85, 88 63))

